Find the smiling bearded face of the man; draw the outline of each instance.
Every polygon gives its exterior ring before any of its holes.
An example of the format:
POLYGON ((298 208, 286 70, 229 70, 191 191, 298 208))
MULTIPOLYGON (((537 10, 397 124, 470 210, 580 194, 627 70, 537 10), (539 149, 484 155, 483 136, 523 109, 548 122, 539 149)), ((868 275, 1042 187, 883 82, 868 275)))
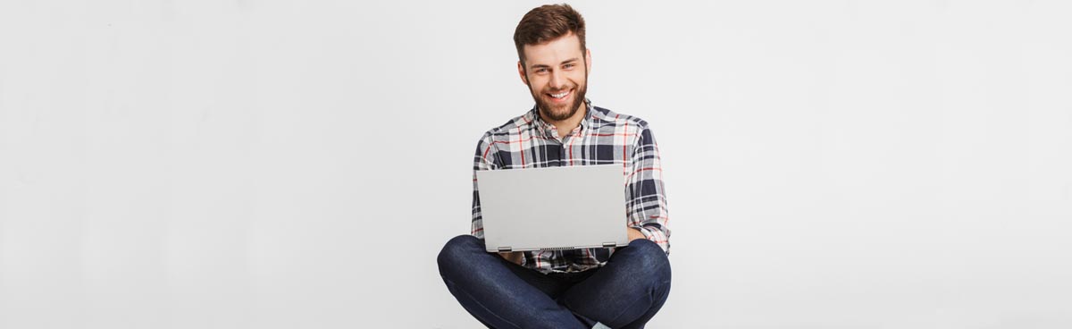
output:
POLYGON ((571 118, 584 103, 592 56, 581 50, 581 41, 574 33, 538 44, 525 45, 525 61, 518 62, 521 80, 545 120, 571 118))

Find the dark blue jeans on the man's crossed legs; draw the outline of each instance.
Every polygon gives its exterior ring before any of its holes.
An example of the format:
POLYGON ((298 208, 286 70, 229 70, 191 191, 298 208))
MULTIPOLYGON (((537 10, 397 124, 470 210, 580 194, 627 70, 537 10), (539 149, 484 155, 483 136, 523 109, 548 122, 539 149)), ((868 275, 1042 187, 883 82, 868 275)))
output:
POLYGON ((577 273, 521 267, 468 235, 450 239, 438 263, 450 294, 489 328, 643 328, 670 294, 670 260, 644 239, 577 273))

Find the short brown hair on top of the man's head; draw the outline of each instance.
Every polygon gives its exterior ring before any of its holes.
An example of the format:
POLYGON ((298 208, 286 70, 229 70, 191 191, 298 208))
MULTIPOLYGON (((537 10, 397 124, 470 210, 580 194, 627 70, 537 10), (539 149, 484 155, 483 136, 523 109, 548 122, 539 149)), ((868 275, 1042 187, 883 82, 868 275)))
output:
POLYGON ((545 4, 528 11, 518 28, 513 30, 513 45, 518 47, 518 59, 525 61, 525 45, 538 45, 572 32, 581 41, 581 56, 584 55, 584 17, 569 4, 545 4))

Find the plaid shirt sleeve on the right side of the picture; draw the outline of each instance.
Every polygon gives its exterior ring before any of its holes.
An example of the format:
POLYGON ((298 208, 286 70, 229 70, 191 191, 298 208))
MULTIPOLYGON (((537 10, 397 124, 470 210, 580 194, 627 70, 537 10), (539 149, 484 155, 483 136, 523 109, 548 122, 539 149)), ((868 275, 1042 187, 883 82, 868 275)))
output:
POLYGON ((670 228, 667 226, 667 200, 662 189, 662 168, 659 148, 652 131, 640 131, 632 152, 626 193, 626 215, 629 226, 639 228, 644 237, 670 254, 670 228))

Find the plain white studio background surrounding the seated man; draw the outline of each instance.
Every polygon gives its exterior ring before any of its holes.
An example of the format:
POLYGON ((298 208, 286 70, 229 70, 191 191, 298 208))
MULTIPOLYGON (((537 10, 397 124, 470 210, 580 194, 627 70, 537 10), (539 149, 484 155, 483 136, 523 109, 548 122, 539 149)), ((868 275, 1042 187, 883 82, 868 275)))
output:
MULTIPOLYGON (((0 2, 0 328, 474 328, 435 255, 538 2, 0 2)), ((650 328, 1072 327, 1072 4, 574 3, 650 328)))

